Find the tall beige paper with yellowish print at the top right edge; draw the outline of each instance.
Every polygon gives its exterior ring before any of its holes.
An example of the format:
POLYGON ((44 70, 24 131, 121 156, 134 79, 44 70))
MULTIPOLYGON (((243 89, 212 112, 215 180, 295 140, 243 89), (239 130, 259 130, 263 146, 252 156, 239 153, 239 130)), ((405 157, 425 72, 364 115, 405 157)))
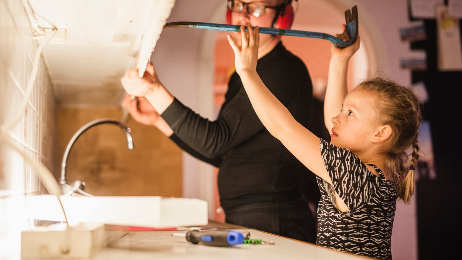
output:
POLYGON ((462 71, 462 44, 459 19, 451 16, 447 6, 435 8, 438 31, 438 69, 462 71))

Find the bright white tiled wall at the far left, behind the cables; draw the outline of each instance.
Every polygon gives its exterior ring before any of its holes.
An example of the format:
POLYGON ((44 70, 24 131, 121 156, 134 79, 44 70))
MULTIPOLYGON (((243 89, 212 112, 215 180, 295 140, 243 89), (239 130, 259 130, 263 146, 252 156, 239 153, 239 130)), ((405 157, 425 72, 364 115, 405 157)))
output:
MULTIPOLYGON (((37 48, 21 0, 0 0, 0 124, 18 112, 37 48)), ((10 136, 31 157, 53 170, 53 90, 41 62, 27 112, 10 136)), ((40 192, 29 163, 0 142, 0 259, 19 259, 24 194, 40 192)))

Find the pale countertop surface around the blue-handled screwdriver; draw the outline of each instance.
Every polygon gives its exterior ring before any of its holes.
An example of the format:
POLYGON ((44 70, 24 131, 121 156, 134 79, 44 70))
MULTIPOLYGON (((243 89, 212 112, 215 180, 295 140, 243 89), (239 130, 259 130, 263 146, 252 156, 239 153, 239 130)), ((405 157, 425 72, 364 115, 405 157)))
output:
POLYGON ((274 245, 237 245, 232 248, 194 245, 182 237, 171 234, 187 231, 135 231, 129 232, 109 248, 96 254, 94 260, 255 260, 255 259, 322 259, 357 260, 359 256, 337 252, 314 244, 271 235, 254 229, 233 229, 249 231, 250 238, 274 241, 274 245))

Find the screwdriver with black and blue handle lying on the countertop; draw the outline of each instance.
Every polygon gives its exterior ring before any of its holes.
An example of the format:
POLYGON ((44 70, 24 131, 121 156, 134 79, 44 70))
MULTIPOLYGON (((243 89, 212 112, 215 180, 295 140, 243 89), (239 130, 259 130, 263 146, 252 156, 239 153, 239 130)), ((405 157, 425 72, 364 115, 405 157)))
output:
POLYGON ((244 242, 244 235, 232 230, 199 231, 195 229, 188 231, 188 233, 173 233, 172 236, 182 236, 193 244, 201 243, 214 247, 231 247, 244 242))

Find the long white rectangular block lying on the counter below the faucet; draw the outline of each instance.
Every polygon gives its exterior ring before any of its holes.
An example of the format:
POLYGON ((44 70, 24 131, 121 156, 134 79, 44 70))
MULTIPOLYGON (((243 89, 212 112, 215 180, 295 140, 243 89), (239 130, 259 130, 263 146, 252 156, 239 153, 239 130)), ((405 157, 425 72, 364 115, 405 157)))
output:
MULTIPOLYGON (((197 198, 158 196, 61 196, 69 222, 104 223, 151 228, 207 225, 207 202, 197 198)), ((29 219, 65 221, 54 195, 27 196, 29 219)))

